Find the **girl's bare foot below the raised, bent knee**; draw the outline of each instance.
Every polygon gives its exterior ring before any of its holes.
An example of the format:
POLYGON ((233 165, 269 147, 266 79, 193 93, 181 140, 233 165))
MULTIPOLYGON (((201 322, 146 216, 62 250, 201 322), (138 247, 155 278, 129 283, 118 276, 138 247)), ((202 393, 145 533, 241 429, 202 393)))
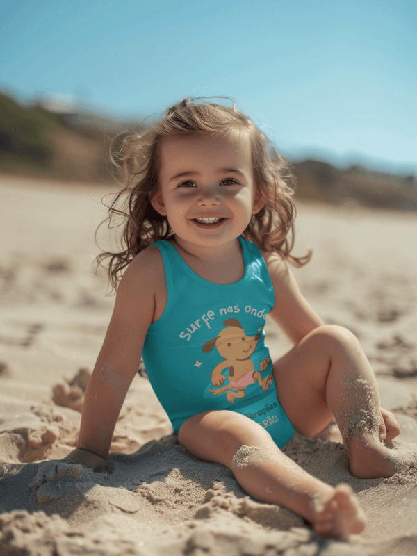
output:
POLYGON ((346 451, 350 473, 358 479, 392 477, 394 473, 405 471, 411 464, 404 454, 389 450, 372 434, 352 436, 346 451))

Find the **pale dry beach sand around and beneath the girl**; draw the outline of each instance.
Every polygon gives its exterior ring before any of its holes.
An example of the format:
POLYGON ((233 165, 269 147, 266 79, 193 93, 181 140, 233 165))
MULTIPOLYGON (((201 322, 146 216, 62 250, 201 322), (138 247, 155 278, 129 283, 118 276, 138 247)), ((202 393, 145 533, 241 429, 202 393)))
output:
MULTIPOLYGON (((139 376, 106 473, 54 461, 74 447, 76 409, 113 306, 91 271, 108 191, 0 181, 0 555, 417 555, 417 466, 359 480, 337 435, 295 436, 286 453, 330 484, 349 483, 368 516, 362 534, 328 541, 246 496, 227 468, 189 455, 139 376)), ((359 337, 402 426, 392 449, 417 461, 416 215, 298 213, 296 251, 310 244, 314 255, 295 277, 326 322, 359 337)), ((269 324, 268 336, 272 357, 288 349, 269 324)))

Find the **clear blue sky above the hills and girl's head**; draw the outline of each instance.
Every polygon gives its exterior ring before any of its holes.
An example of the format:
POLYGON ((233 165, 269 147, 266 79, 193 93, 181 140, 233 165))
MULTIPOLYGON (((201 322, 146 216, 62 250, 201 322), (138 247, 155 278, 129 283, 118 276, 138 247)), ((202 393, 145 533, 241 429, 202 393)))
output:
POLYGON ((145 117, 227 95, 292 158, 417 174, 415 0, 3 0, 0 89, 145 117))

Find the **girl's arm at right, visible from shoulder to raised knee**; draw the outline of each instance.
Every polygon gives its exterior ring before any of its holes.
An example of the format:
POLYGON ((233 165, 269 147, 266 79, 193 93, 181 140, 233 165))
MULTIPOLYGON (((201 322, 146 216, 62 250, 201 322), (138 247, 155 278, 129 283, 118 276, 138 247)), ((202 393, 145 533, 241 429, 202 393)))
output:
POLYGON ((304 299, 286 263, 277 254, 263 254, 275 291, 275 305, 269 313, 275 324, 295 345, 311 330, 324 323, 304 299))

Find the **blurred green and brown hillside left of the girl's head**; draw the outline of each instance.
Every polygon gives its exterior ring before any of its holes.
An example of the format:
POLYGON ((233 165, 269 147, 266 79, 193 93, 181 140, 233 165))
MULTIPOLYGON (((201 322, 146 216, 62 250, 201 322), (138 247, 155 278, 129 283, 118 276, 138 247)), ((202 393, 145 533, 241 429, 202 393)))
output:
POLYGON ((65 104, 40 101, 23 107, 0 94, 0 173, 111 181, 111 140, 129 127, 129 122, 71 110, 65 104))

